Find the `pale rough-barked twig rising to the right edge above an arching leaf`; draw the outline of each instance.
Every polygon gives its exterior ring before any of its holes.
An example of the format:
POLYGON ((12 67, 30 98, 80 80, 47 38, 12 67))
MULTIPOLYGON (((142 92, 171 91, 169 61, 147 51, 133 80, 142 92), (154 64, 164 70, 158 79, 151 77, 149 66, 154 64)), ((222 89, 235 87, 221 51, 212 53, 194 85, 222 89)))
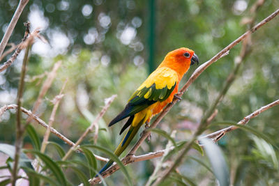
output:
MULTIPOLYGON (((276 105, 279 104, 279 100, 276 100, 275 102, 271 102, 270 104, 267 104, 264 107, 261 107, 260 109, 257 109, 256 111, 252 112, 252 114, 246 116, 245 118, 243 118, 243 120, 239 121, 239 123, 237 123, 238 125, 246 125, 246 123, 248 123, 250 121, 250 119, 255 118, 256 116, 258 116, 259 114, 261 114, 263 111, 266 111, 267 109, 271 109, 271 107, 274 107, 276 105)), ((222 130, 218 130, 216 132, 213 132, 211 134, 207 134, 206 136, 202 137, 202 138, 209 138, 209 139, 213 139, 213 141, 218 141, 219 139, 221 139, 222 137, 225 136, 225 134, 227 134, 227 132, 231 132, 232 130, 236 130, 239 127, 232 125, 230 127, 226 127, 222 130)))

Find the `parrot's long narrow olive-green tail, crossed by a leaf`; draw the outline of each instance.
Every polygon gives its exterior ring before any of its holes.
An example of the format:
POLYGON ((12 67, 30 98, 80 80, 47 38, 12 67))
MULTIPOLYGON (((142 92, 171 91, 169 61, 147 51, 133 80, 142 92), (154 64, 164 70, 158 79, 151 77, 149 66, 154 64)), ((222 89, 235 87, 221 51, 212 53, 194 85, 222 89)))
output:
MULTIPOLYGON (((128 144, 130 144, 130 141, 132 141, 132 139, 135 137, 135 134, 137 134, 137 131, 140 129, 140 126, 142 126, 142 123, 143 123, 143 120, 140 121, 140 123, 137 124, 136 127, 133 127, 132 125, 130 126, 128 132, 125 134, 125 137, 123 137, 121 143, 114 151, 114 155, 119 157, 119 155, 121 155, 121 153, 123 153, 123 151, 127 148, 128 144)), ((108 161, 107 164, 105 164, 105 166, 103 166, 103 168, 100 170, 99 174, 103 173, 103 171, 107 170, 113 164, 113 162, 114 161, 112 159, 110 159, 110 161, 108 161)), ((98 176, 96 176, 96 177, 98 177, 98 176)))

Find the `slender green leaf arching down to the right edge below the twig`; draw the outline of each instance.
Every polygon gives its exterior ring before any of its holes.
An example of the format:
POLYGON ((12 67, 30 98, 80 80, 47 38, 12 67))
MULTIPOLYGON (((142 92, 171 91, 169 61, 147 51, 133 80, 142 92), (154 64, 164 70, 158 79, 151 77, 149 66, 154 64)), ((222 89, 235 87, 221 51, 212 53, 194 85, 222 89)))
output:
POLYGON ((238 125, 238 124, 233 123, 231 121, 212 123, 211 125, 234 125, 236 127, 239 127, 239 129, 241 129, 241 130, 245 130, 247 132, 251 132, 252 134, 255 134, 255 136, 264 139, 266 142, 268 142, 269 144, 273 145, 274 147, 276 147, 279 150, 279 147, 276 145, 276 143, 272 139, 270 139, 264 133, 259 132, 259 131, 255 130, 254 128, 252 128, 252 127, 250 127, 248 125, 238 125))

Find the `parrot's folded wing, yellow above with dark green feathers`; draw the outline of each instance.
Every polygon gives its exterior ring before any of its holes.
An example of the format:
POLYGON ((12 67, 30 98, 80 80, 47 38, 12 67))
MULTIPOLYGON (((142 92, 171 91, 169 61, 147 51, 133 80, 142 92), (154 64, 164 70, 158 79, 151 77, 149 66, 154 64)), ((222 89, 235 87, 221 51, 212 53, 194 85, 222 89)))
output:
POLYGON ((121 121, 123 118, 133 116, 146 109, 155 102, 163 102, 174 91, 178 83, 177 73, 170 68, 158 68, 147 77, 144 83, 128 100, 128 104, 121 113, 114 118, 109 126, 121 121))

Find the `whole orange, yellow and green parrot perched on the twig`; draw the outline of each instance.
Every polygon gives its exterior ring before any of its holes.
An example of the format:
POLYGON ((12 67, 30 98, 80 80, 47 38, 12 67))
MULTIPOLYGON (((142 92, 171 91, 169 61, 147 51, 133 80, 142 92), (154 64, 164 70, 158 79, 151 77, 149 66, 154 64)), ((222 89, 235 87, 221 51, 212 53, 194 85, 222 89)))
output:
MULTIPOLYGON (((127 127, 130 126, 130 128, 114 151, 114 155, 121 155, 140 127, 144 123, 149 123, 152 116, 158 114, 169 102, 172 102, 174 95, 178 92, 181 78, 194 63, 198 64, 199 58, 193 50, 184 47, 175 49, 165 56, 158 68, 137 88, 137 91, 128 100, 125 109, 109 124, 112 126, 124 118, 130 117, 122 127, 120 134, 127 127)), ((113 160, 107 162, 99 173, 103 173, 113 162, 113 160)))

